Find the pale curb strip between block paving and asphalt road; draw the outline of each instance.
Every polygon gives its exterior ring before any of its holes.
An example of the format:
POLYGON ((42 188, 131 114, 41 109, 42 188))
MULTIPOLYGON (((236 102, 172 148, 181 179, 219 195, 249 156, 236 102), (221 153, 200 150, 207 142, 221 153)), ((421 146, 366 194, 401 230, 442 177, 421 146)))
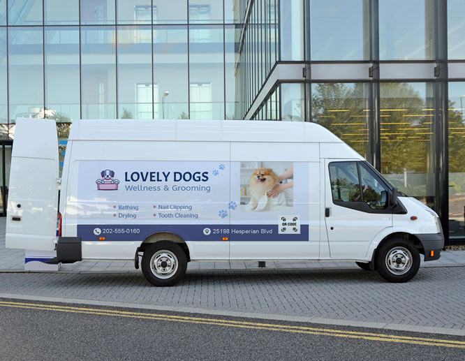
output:
POLYGON ((331 318, 290 316, 290 315, 282 315, 282 314, 259 314, 259 313, 254 313, 254 312, 242 312, 242 311, 221 311, 221 310, 214 310, 214 309, 201 309, 201 308, 195 308, 195 307, 156 306, 152 304, 106 302, 106 301, 81 300, 77 298, 64 298, 64 297, 15 295, 15 294, 10 294, 10 293, 0 293, 0 298, 8 298, 8 299, 13 299, 13 300, 27 300, 27 301, 61 302, 61 303, 66 303, 66 304, 86 304, 86 305, 105 306, 105 307, 125 307, 128 309, 172 311, 172 312, 184 312, 184 313, 189 313, 189 314, 208 314, 208 315, 214 315, 214 316, 258 318, 262 320, 273 320, 273 321, 291 321, 291 322, 302 322, 302 323, 315 323, 315 324, 320 324, 320 325, 367 327, 367 328, 376 328, 380 330, 395 330, 395 331, 421 332, 421 333, 429 333, 429 334, 447 334, 447 335, 452 335, 452 336, 465 336, 465 330, 457 330, 453 328, 441 328, 441 327, 401 325, 398 323, 334 320, 331 318))

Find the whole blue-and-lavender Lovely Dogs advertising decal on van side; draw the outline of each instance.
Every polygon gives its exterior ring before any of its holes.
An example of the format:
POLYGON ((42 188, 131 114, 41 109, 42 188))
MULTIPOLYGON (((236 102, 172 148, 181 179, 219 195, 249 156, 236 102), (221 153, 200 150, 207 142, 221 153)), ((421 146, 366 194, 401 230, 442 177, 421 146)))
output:
POLYGON ((308 163, 75 164, 78 197, 69 206, 82 240, 142 241, 157 232, 186 241, 309 240, 308 163))

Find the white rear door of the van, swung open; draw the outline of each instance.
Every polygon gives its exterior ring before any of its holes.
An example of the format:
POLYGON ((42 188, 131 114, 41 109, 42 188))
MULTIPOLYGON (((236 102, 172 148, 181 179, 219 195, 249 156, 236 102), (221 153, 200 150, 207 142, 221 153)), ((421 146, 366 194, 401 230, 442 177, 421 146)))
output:
POLYGON ((8 248, 52 251, 57 235, 58 138, 52 119, 18 118, 6 217, 8 248))

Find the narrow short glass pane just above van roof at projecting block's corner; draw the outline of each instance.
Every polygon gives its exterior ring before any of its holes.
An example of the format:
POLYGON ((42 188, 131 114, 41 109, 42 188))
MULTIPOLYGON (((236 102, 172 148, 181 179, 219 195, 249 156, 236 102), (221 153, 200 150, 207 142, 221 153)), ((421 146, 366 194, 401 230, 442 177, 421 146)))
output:
POLYGON ((282 120, 304 121, 305 86, 303 83, 281 84, 282 120))

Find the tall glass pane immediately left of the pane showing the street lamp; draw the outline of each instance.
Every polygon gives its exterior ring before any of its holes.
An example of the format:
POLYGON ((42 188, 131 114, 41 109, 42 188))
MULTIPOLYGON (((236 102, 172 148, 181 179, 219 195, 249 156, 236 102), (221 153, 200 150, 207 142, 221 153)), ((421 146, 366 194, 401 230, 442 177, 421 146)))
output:
POLYGON ((118 27, 118 117, 152 119, 152 27, 118 27))

